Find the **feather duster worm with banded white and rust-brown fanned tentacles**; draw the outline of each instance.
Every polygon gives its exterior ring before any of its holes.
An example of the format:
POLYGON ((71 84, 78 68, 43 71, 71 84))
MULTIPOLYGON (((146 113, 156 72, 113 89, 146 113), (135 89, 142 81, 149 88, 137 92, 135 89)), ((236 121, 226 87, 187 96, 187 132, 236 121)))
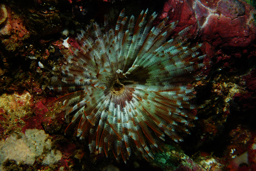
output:
POLYGON ((165 134, 182 141, 179 132, 189 133, 197 119, 192 110, 200 107, 189 103, 195 93, 187 86, 204 78, 198 71, 205 66, 200 44, 190 47, 184 40, 189 27, 166 41, 178 22, 165 18, 152 27, 156 12, 148 21, 147 13, 134 22, 123 10, 115 29, 105 19, 105 33, 97 23, 87 26, 69 52, 62 52, 61 76, 55 74, 48 86, 69 92, 50 104, 63 101, 66 116, 75 113, 69 126, 80 119, 77 137, 89 133, 90 151, 108 156, 111 150, 125 163, 132 149, 154 159, 165 134))

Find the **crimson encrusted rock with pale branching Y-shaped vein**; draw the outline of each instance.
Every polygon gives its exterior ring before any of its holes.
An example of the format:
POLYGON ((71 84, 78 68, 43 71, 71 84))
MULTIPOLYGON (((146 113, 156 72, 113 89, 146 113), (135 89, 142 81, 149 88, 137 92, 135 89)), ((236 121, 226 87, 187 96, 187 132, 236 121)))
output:
POLYGON ((160 19, 179 20, 181 29, 193 25, 191 34, 199 29, 201 39, 214 47, 246 47, 255 40, 255 12, 244 1, 169 0, 160 19))

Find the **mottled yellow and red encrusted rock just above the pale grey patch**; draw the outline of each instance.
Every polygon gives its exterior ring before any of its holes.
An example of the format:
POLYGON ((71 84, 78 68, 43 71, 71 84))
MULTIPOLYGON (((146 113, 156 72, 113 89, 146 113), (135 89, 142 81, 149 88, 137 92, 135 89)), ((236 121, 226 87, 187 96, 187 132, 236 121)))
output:
POLYGON ((34 98, 29 92, 3 93, 0 96, 0 139, 12 132, 25 132, 27 129, 44 129, 56 132, 64 123, 64 115, 58 104, 48 107, 54 98, 34 98))

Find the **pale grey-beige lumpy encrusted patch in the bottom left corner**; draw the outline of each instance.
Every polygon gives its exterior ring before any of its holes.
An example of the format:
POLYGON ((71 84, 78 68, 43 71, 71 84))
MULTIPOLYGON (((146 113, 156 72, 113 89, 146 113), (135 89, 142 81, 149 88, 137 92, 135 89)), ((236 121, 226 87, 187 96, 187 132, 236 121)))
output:
POLYGON ((18 164, 33 165, 40 161, 42 165, 53 165, 62 157, 59 150, 52 149, 52 140, 44 130, 28 129, 24 133, 13 133, 0 141, 0 167, 8 160, 18 164))

